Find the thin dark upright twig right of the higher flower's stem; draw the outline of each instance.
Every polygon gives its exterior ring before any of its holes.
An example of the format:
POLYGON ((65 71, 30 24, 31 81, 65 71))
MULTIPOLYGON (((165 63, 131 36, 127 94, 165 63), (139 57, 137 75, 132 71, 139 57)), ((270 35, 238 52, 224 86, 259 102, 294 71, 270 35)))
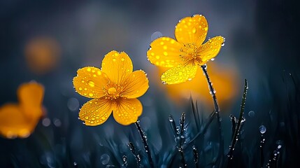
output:
MULTIPOLYGON (((236 123, 236 130, 234 131, 234 137, 232 138, 231 146, 229 146, 229 152, 227 154, 228 163, 233 158, 234 147, 236 146, 236 142, 238 141, 238 134, 241 130, 241 123, 243 120, 243 113, 245 110, 245 101, 246 101, 247 91, 248 91, 248 81, 245 79, 245 87, 244 87, 244 91, 243 91, 243 99, 242 99, 242 103, 241 103, 240 116, 238 117, 238 123, 236 123)), ((229 166, 229 164, 227 166, 229 166)))

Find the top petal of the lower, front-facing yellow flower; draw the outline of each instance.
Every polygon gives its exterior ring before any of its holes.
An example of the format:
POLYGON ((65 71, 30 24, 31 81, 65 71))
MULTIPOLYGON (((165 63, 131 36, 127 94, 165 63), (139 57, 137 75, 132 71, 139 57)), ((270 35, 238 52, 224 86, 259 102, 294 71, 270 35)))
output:
POLYGON ((125 52, 110 51, 103 58, 101 69, 115 84, 120 84, 133 71, 133 65, 125 52))

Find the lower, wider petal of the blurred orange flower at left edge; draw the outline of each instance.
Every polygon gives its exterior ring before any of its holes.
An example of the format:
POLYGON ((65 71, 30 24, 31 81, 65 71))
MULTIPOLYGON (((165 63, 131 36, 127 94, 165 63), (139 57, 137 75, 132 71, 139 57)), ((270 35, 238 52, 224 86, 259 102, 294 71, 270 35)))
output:
POLYGON ((17 104, 5 104, 0 108, 0 134, 8 139, 27 138, 34 131, 38 120, 27 120, 17 104))

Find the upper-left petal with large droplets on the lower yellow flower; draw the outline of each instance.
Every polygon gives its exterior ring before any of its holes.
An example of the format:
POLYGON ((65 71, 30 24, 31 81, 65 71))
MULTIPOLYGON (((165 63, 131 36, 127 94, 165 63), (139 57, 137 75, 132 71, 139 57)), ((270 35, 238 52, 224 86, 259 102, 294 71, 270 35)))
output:
POLYGON ((73 78, 76 91, 85 97, 100 98, 104 96, 103 87, 108 83, 106 73, 92 66, 78 69, 77 76, 73 78))

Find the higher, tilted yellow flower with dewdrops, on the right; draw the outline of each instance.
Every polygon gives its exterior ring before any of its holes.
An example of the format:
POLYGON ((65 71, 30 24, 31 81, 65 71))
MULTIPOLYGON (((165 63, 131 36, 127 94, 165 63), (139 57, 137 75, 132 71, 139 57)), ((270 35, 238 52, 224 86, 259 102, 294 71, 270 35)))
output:
POLYGON ((204 44, 208 23, 203 15, 183 18, 175 28, 176 40, 160 37, 152 41, 147 52, 149 61, 157 66, 171 68, 161 76, 162 83, 178 84, 192 80, 198 66, 217 56, 224 38, 216 36, 204 44))

